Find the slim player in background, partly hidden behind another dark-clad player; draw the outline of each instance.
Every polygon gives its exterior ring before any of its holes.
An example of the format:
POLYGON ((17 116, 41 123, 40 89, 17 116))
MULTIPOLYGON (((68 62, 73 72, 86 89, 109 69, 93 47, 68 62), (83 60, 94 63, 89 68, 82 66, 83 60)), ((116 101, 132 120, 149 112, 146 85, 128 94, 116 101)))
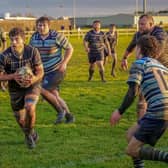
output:
MULTIPOLYGON (((112 68, 111 68, 111 75, 113 77, 115 77, 115 67, 116 67, 116 64, 117 64, 117 53, 116 53, 116 46, 117 46, 117 43, 118 43, 118 33, 117 33, 117 30, 116 30, 116 25, 115 24, 110 24, 109 25, 109 31, 106 33, 106 36, 107 36, 107 40, 109 42, 109 45, 110 45, 110 49, 111 49, 111 56, 113 58, 113 62, 112 62, 112 68)), ((107 50, 107 49, 105 49, 107 50)), ((107 56, 108 56, 109 52, 106 51, 105 52, 105 58, 104 58, 104 65, 106 63, 106 59, 107 59, 107 56)))

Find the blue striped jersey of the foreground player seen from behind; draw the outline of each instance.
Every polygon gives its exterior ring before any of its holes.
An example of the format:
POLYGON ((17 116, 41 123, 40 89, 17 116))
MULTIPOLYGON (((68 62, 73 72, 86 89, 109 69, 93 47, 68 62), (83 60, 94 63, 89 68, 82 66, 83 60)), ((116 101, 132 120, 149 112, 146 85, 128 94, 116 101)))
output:
POLYGON ((148 104, 146 117, 168 120, 168 68, 155 59, 143 57, 132 64, 129 82, 140 85, 148 104))

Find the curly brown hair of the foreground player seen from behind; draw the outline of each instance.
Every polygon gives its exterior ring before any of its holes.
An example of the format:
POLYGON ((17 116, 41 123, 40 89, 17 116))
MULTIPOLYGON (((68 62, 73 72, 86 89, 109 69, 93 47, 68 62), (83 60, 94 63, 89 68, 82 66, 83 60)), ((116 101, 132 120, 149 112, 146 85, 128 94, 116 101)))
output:
POLYGON ((160 45, 156 37, 143 35, 137 42, 137 46, 141 49, 141 54, 151 58, 156 58, 160 54, 160 45))

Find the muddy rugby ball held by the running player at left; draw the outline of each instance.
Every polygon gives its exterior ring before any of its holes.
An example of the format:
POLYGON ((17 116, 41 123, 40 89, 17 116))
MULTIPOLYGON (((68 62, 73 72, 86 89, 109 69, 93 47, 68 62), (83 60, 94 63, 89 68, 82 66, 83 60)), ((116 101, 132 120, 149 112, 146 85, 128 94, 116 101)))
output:
POLYGON ((30 67, 23 66, 18 68, 16 72, 21 76, 21 79, 16 82, 23 88, 29 87, 31 78, 33 77, 33 72, 30 67))

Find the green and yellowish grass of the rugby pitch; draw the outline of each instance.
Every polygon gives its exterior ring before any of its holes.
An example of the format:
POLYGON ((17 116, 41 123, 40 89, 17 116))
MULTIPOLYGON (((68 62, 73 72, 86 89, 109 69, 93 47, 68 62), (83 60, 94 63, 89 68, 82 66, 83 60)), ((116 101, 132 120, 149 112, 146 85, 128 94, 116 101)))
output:
MULTIPOLYGON (((111 64, 107 63, 107 83, 100 81, 97 69, 94 80, 87 82, 88 61, 82 39, 70 39, 74 54, 61 85, 61 95, 75 115, 76 123, 53 125, 56 112, 46 102, 40 101, 36 122, 40 141, 33 150, 24 144, 24 136, 11 112, 8 94, 0 92, 0 168, 133 167, 125 154, 125 132, 136 120, 135 104, 118 126, 112 128, 109 124, 111 112, 120 105, 127 90, 128 72, 121 71, 120 60, 130 38, 119 38, 117 77, 110 76, 111 64)), ((168 150, 167 138, 165 134, 157 147, 168 150)), ((148 161, 145 164, 151 168, 167 168, 159 162, 148 161)))

